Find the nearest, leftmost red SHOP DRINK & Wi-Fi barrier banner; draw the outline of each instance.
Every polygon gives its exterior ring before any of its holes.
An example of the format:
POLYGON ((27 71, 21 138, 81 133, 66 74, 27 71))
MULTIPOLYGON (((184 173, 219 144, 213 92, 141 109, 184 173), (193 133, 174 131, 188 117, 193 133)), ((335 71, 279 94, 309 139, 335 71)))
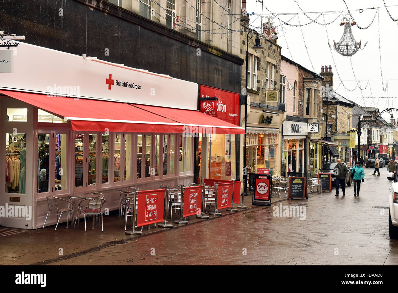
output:
POLYGON ((165 189, 138 192, 137 227, 163 222, 165 189))

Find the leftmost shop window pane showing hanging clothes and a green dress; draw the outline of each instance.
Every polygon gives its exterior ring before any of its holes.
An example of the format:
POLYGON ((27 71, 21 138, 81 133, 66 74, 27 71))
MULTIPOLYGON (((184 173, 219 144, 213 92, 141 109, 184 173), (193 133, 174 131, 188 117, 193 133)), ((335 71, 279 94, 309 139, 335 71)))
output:
POLYGON ((25 193, 26 134, 6 133, 6 192, 25 193))

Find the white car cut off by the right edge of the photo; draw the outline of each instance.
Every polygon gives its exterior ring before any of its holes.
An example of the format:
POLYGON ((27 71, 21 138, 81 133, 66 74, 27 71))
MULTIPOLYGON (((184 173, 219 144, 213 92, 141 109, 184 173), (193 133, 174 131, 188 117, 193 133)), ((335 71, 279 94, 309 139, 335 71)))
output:
POLYGON ((398 172, 388 173, 387 178, 393 181, 388 196, 388 232, 391 239, 398 239, 398 172))

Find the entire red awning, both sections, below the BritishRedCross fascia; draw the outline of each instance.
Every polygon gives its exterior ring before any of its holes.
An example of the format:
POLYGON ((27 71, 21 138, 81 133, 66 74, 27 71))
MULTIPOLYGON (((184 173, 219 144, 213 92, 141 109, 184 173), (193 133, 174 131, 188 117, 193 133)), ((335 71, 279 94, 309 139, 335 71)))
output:
POLYGON ((244 128, 199 111, 133 105, 103 100, 47 96, 0 90, 0 93, 70 120, 75 131, 244 134, 244 128), (198 129, 193 128, 196 126, 198 129))

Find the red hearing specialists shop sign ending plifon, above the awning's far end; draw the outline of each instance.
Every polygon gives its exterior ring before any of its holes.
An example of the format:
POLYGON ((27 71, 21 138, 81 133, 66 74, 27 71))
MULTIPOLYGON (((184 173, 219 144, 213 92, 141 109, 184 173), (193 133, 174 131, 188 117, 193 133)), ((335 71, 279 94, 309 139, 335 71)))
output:
MULTIPOLYGON (((206 103, 206 107, 202 110, 201 102, 201 112, 208 114, 213 112, 213 102, 214 102, 214 112, 217 114, 215 117, 239 125, 239 94, 236 92, 230 92, 228 90, 220 90, 219 88, 207 87, 205 85, 200 86, 200 97, 201 98, 218 98, 218 101, 203 101, 206 103), (206 112, 204 112, 206 109, 206 112)), ((213 116, 213 114, 209 114, 213 116)))

